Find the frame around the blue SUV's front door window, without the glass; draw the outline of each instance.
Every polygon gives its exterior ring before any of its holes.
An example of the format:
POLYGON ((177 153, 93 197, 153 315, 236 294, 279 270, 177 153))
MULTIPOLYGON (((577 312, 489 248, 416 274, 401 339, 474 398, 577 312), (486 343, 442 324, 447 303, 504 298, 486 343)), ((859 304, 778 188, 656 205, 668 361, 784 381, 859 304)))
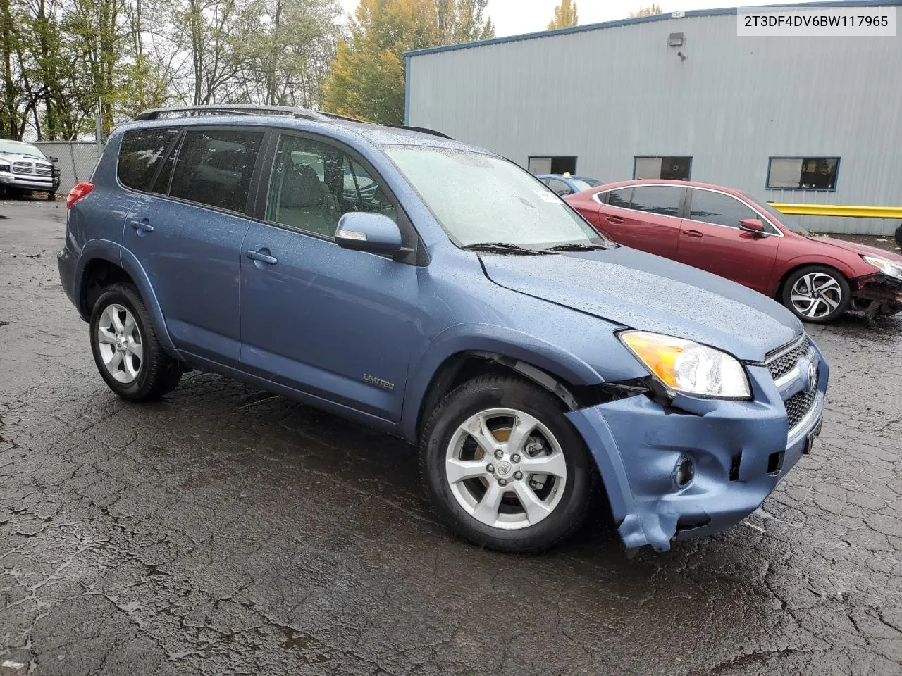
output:
MULTIPOLYGON (((251 183, 251 196, 253 196, 253 204, 251 204, 248 208, 248 215, 254 221, 257 221, 262 224, 270 225, 275 228, 281 228, 281 230, 287 230, 291 233, 298 233, 300 235, 304 235, 305 237, 312 237, 314 239, 318 239, 321 242, 330 242, 338 246, 338 243, 335 241, 335 237, 327 237, 320 233, 312 233, 308 230, 302 230, 301 228, 293 227, 291 225, 276 223, 275 221, 270 221, 266 218, 266 207, 269 204, 269 196, 270 196, 270 183, 272 178, 272 169, 273 164, 275 162, 276 151, 279 149, 279 142, 281 142, 281 138, 283 136, 295 137, 301 139, 308 139, 309 141, 323 143, 324 145, 331 146, 336 148, 336 150, 345 153, 345 155, 359 164, 376 182, 376 185, 382 189, 382 192, 385 193, 385 196, 388 197, 391 205, 395 207, 395 213, 397 214, 397 223, 398 227, 401 231, 401 236, 405 240, 405 246, 409 243, 412 244, 409 251, 403 256, 399 258, 393 259, 399 263, 405 263, 407 265, 417 266, 417 267, 425 267, 429 264, 429 255, 426 250, 426 245, 423 243, 422 238, 419 236, 419 232, 417 232, 417 228, 414 226, 413 221, 410 220, 410 216, 407 215, 407 211, 401 205, 398 196, 392 192, 391 187, 388 186, 388 183, 382 178, 382 174, 376 171, 373 168, 373 165, 364 158, 364 156, 356 151, 354 148, 346 144, 345 142, 341 142, 338 139, 332 138, 330 136, 325 136, 323 134, 319 134, 316 132, 308 132, 301 131, 298 129, 286 128, 286 127, 272 127, 271 135, 266 142, 265 148, 261 151, 262 162, 258 165, 259 175, 256 176, 256 183, 251 183), (263 171, 262 169, 266 170, 263 171)), ((251 200, 249 200, 251 201, 251 200)), ((382 258, 387 258, 386 256, 382 256, 382 258)))

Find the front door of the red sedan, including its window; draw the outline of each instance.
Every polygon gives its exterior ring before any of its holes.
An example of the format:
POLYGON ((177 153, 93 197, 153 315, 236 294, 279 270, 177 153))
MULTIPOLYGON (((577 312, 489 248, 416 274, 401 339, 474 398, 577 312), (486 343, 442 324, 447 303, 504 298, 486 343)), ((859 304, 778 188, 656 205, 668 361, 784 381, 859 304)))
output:
POLYGON ((699 187, 688 196, 677 260, 767 293, 777 260, 778 232, 738 197, 699 187), (741 230, 739 223, 757 218, 766 235, 741 230))

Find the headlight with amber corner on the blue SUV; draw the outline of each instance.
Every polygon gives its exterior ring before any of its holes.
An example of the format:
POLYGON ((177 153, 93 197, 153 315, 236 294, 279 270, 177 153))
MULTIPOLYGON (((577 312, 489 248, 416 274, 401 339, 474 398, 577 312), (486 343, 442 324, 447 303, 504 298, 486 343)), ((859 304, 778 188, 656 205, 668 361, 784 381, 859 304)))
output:
POLYGON ((624 331, 619 337, 671 392, 723 399, 751 397, 742 364, 726 352, 660 333, 624 331))

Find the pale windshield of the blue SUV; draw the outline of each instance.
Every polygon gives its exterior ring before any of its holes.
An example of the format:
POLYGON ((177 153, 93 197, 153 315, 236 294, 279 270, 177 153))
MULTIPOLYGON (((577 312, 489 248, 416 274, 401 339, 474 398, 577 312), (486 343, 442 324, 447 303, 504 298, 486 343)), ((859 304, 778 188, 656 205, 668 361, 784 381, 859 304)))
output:
POLYGON ((458 246, 503 243, 528 249, 609 242, 548 187, 492 155, 446 148, 385 148, 458 246))

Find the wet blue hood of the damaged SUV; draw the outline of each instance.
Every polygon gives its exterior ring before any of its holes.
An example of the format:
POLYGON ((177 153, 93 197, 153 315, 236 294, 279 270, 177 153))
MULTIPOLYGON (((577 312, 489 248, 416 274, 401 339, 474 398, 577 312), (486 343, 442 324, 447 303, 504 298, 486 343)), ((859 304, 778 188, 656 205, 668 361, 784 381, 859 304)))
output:
POLYGON ((480 259, 488 278, 504 288, 742 360, 761 361, 803 333, 795 315, 757 291, 628 247, 480 259))

